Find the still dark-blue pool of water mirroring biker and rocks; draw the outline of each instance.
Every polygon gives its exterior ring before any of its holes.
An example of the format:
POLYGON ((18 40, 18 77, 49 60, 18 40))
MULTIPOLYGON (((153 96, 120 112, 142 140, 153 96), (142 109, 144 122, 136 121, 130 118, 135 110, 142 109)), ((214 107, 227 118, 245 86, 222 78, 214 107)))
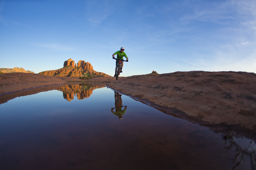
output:
MULTIPOLYGON (((251 141, 236 139, 249 150, 251 141)), ((0 105, 0 169, 252 169, 252 157, 232 145, 205 126, 89 84, 0 105)))

